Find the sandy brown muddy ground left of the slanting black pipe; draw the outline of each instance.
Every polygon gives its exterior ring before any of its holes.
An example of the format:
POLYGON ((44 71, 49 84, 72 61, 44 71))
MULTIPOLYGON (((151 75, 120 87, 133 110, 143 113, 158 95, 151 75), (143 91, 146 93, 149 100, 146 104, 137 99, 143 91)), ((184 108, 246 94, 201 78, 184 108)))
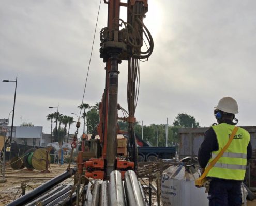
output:
MULTIPOLYGON (((67 164, 58 165, 51 164, 49 170, 51 173, 40 173, 39 171, 27 171, 27 170, 13 170, 12 168, 6 168, 6 179, 7 182, 0 183, 0 206, 6 205, 21 195, 21 183, 25 182, 26 191, 32 190, 29 186, 35 188, 40 186, 42 183, 47 182, 49 179, 54 178, 58 174, 63 173, 67 169, 67 164), (40 179, 42 178, 42 179, 40 179)), ((71 165, 73 167, 74 165, 71 165)), ((3 177, 0 176, 0 180, 3 177)), ((65 183, 72 182, 73 179, 69 178, 65 183)), ((152 206, 157 206, 157 197, 152 197, 152 206)), ((253 202, 247 201, 247 206, 256 206, 256 200, 253 202)))

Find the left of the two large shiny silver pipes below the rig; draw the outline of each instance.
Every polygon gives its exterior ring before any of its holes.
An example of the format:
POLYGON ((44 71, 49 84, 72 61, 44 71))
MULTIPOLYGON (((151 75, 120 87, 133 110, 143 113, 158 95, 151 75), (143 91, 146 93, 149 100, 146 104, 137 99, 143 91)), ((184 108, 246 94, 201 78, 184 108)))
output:
POLYGON ((110 173, 110 205, 125 206, 123 181, 121 173, 116 170, 110 173))

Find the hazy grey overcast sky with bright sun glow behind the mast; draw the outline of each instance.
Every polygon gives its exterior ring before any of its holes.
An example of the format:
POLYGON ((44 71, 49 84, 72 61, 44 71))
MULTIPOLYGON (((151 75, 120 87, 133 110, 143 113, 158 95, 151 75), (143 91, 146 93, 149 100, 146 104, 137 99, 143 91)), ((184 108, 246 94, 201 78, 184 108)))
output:
MULTIPOLYGON (((15 82, 2 80, 16 75, 14 126, 31 122, 51 133, 46 116, 56 112, 48 107, 57 105, 64 115, 79 115, 99 3, 1 0, 0 118, 8 118, 15 88, 15 82)), ((102 0, 84 97, 89 105, 101 100, 104 89, 99 32, 107 26, 107 11, 102 0)), ((253 0, 148 0, 144 23, 155 46, 140 64, 137 121, 166 124, 168 118, 172 125, 185 112, 200 126, 210 126, 216 122, 214 106, 231 96, 239 106, 238 125, 254 126, 255 13, 253 0)), ((123 7, 126 21, 125 16, 123 7)), ((119 71, 118 102, 126 109, 127 62, 119 71)), ((75 130, 74 124, 70 133, 75 130)))

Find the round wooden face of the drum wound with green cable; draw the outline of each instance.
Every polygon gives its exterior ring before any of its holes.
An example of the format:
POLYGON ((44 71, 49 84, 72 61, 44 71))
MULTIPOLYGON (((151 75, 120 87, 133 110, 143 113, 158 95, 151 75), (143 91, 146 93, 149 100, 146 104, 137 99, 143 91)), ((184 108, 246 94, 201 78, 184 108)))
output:
MULTIPOLYGON (((31 164, 32 166, 38 170, 44 170, 46 169, 46 159, 49 160, 49 152, 46 149, 40 148, 34 151, 33 156, 31 158, 31 164), (48 157, 47 157, 48 156, 48 157)), ((28 157, 28 162, 29 162, 29 157, 28 157)))

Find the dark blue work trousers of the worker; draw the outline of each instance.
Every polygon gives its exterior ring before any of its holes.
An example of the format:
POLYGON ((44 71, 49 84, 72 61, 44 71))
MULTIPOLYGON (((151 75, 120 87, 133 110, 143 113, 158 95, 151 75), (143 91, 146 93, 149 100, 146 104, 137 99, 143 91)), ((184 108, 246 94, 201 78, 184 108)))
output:
POLYGON ((241 182, 213 179, 208 193, 209 206, 241 206, 241 182))

